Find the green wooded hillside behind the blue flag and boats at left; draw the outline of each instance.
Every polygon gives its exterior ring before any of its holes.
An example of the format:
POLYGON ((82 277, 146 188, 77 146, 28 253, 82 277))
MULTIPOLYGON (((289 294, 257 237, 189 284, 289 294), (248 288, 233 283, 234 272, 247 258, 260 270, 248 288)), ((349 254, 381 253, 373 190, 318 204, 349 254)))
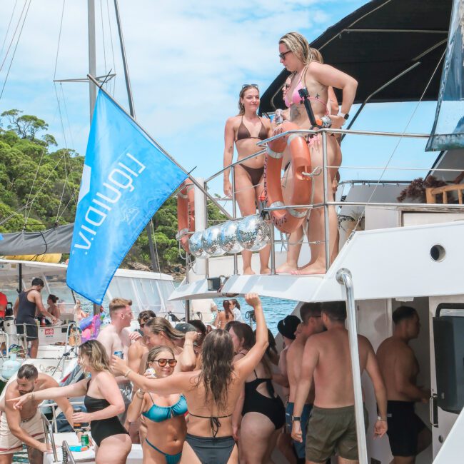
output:
MULTIPOLYGON (((0 225, 0 232, 41 231, 74 222, 84 156, 69 148, 56 148, 48 128, 43 119, 17 109, 0 115, 0 222, 9 218, 0 225)), ((213 206, 208 206, 208 217, 225 219, 213 206)), ((184 260, 176 240, 175 196, 153 216, 153 228, 161 271, 177 270, 184 260)), ((131 263, 151 268, 145 231, 121 267, 131 267, 131 263)))

